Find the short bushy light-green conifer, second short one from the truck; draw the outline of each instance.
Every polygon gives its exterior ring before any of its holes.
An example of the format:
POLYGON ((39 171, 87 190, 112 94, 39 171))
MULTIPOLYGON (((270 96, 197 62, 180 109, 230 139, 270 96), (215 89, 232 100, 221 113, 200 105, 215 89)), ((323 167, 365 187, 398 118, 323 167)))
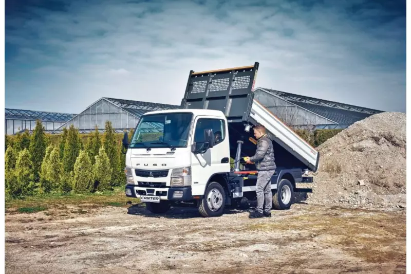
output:
POLYGON ((72 173, 74 192, 84 193, 92 190, 94 187, 94 184, 92 184, 92 166, 90 158, 84 150, 80 151, 72 173))

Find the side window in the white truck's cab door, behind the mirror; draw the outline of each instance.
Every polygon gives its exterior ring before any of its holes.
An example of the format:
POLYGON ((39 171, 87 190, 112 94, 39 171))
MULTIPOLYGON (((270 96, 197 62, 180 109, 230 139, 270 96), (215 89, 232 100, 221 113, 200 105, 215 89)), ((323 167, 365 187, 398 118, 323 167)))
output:
POLYGON ((197 120, 194 142, 205 142, 204 130, 212 129, 214 133, 214 143, 218 144, 226 137, 224 121, 221 119, 201 118, 197 120))

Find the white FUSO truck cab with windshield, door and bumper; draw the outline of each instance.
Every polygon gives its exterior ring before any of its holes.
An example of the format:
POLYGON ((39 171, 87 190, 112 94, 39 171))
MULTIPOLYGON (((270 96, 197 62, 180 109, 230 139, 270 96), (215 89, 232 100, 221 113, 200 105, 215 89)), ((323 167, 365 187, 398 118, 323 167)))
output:
POLYGON ((165 212, 168 201, 201 199, 213 175, 230 172, 227 132, 220 111, 177 109, 144 115, 127 145, 126 195, 150 202, 148 209, 155 213, 165 212))

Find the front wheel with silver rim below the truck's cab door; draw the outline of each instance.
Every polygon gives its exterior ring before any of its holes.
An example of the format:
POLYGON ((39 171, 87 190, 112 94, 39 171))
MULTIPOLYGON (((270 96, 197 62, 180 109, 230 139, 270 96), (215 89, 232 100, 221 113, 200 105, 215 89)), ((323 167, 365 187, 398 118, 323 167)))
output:
POLYGON ((212 182, 206 195, 199 201, 198 211, 203 217, 218 217, 224 212, 226 193, 218 182, 212 182))

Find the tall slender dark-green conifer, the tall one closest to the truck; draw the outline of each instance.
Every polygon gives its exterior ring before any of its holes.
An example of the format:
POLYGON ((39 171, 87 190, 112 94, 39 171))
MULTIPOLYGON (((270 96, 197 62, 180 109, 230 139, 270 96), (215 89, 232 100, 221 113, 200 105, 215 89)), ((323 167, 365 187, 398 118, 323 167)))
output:
POLYGON ((105 133, 104 133, 104 149, 107 153, 108 159, 110 160, 111 167, 111 186, 117 186, 120 182, 119 176, 119 151, 116 145, 116 137, 113 126, 111 126, 110 121, 105 123, 105 133))

